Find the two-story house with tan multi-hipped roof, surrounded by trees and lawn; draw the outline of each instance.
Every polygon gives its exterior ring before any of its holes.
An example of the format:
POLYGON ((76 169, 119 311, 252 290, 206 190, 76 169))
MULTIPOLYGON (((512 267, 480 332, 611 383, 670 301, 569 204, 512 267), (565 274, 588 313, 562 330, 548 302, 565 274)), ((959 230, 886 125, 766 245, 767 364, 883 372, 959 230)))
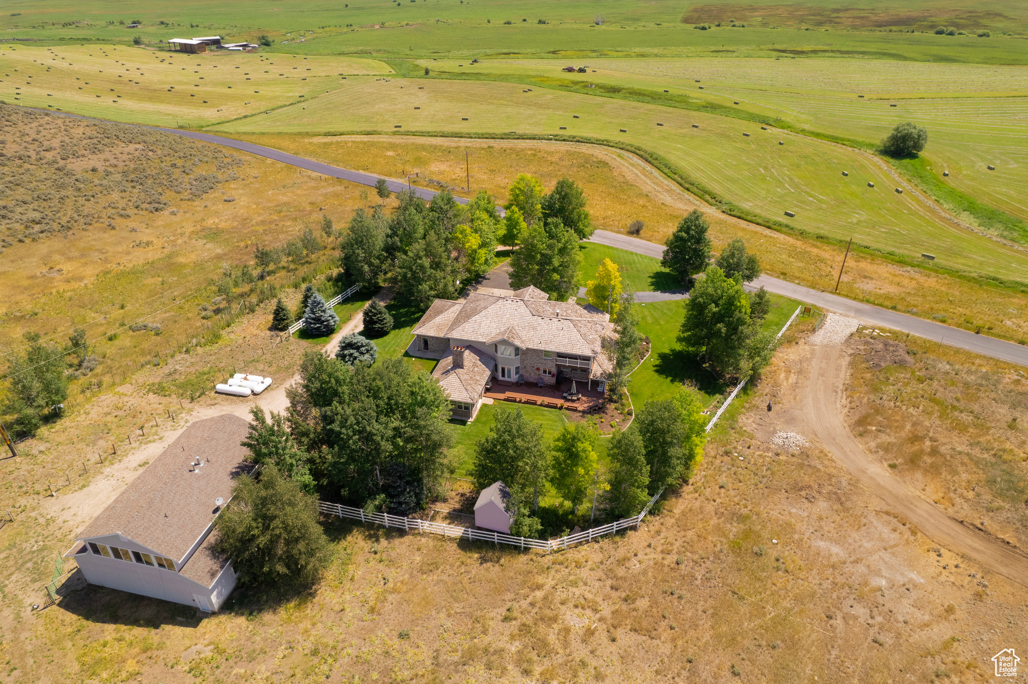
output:
MULTIPOLYGON (((497 291, 492 291, 497 292, 497 291)), ((605 391, 614 339, 611 316, 590 304, 551 302, 535 287, 504 294, 437 299, 411 333, 412 356, 438 358, 432 373, 455 418, 474 418, 485 385, 584 382, 605 391)))

